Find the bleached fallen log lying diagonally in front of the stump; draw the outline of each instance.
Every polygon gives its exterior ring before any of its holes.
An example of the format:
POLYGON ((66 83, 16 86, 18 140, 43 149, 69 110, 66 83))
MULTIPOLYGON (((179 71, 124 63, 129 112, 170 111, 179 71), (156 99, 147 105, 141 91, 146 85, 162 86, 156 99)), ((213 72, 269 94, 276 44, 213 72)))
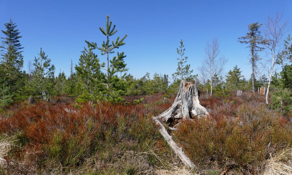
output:
POLYGON ((158 130, 161 133, 161 135, 164 137, 168 145, 171 147, 173 152, 180 158, 180 160, 189 168, 194 168, 194 163, 185 155, 183 150, 177 146, 177 144, 173 141, 172 137, 168 134, 164 126, 161 124, 159 120, 157 120, 156 117, 152 117, 153 121, 157 124, 158 130))

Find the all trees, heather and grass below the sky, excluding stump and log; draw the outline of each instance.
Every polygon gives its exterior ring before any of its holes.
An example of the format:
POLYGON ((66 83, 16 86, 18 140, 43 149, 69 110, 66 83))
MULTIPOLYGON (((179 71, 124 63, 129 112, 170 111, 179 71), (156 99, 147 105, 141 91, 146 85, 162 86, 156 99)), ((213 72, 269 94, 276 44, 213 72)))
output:
POLYGON ((126 53, 117 52, 127 35, 119 37, 109 16, 100 27, 105 40, 85 41, 69 75, 55 77, 42 48, 24 71, 20 32, 10 20, 1 38, 0 173, 291 174, 292 44, 281 17, 250 24, 238 38, 251 51, 249 80, 238 65, 223 74, 228 60, 213 38, 197 75, 180 40, 172 83, 165 74, 128 74, 126 53), (194 169, 184 169, 151 120, 172 105, 181 81, 199 81, 199 101, 210 111, 168 131, 194 169), (237 90, 244 92, 237 97, 237 90))

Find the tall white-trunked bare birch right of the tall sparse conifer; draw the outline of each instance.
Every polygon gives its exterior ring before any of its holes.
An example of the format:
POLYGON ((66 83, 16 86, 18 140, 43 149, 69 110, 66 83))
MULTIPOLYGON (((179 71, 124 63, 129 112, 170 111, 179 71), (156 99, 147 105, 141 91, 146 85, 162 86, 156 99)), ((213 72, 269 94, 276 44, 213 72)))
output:
POLYGON ((263 67, 267 70, 268 74, 268 87, 266 93, 266 103, 268 104, 268 95, 272 76, 277 70, 276 62, 277 55, 281 52, 284 35, 290 30, 289 20, 282 20, 283 13, 277 12, 275 17, 268 16, 265 22, 265 36, 269 41, 267 47, 267 57, 263 63, 263 67))

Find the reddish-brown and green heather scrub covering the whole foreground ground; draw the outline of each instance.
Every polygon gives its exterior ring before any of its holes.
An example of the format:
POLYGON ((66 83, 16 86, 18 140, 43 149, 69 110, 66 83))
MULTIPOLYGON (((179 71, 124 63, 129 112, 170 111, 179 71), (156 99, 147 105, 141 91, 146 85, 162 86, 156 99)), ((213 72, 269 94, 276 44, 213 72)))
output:
POLYGON ((202 94, 210 116, 169 131, 193 170, 151 120, 174 97, 124 98, 128 103, 75 104, 65 96, 14 103, 0 114, 0 174, 291 174, 292 114, 269 109, 257 93, 202 94))

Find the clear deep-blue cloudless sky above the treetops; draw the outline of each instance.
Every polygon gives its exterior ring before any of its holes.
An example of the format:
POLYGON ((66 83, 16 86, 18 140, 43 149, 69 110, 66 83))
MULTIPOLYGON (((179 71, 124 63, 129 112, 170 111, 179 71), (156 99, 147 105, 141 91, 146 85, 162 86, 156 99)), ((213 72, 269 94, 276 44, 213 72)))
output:
MULTIPOLYGON (((259 1, 11 1, 0 0, 0 29, 9 18, 21 32, 24 69, 40 47, 56 67, 56 75, 70 71, 71 59, 78 63, 84 40, 101 44, 106 15, 117 25, 117 36, 128 34, 119 48, 127 55, 129 73, 140 78, 146 72, 171 75, 177 67, 176 48, 182 38, 188 63, 197 74, 206 41, 217 37, 221 53, 229 59, 225 72, 238 65, 250 77, 249 50, 237 38, 247 25, 263 23, 267 15, 284 10, 292 17, 291 0, 259 1)), ((291 33, 291 32, 290 32, 291 33)), ((3 34, 0 34, 3 37, 3 34)), ((105 61, 98 50, 101 61, 105 61)), ((116 55, 116 54, 114 54, 116 55)), ((114 56, 113 55, 113 56, 114 56)))

